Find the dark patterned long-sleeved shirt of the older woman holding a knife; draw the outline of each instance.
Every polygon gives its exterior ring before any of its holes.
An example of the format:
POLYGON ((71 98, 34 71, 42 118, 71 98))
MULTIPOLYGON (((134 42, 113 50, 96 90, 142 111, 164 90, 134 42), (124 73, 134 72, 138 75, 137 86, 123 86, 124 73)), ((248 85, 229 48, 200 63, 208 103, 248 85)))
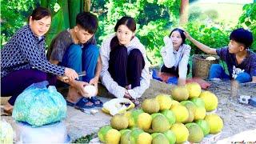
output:
POLYGON ((29 25, 18 30, 1 50, 1 78, 14 70, 37 69, 63 75, 65 67, 51 64, 46 59, 45 38, 35 36, 29 25))

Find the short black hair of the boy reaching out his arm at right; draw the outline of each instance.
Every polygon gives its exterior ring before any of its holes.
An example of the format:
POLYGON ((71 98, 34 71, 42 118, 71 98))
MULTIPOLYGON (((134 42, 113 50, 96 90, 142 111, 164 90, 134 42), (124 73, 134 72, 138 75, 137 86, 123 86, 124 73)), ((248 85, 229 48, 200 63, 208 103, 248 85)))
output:
POLYGON ((248 49, 254 42, 253 34, 249 30, 245 30, 244 28, 238 28, 236 30, 233 30, 230 34, 230 40, 242 43, 246 46, 246 49, 248 49))

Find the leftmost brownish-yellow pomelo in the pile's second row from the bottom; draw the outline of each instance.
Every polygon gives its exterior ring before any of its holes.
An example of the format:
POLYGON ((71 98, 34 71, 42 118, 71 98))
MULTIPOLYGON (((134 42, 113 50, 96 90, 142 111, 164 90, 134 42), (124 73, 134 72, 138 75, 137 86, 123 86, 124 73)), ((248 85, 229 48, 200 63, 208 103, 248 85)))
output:
POLYGON ((111 126, 116 130, 126 129, 128 127, 128 118, 123 114, 115 114, 110 120, 111 126))

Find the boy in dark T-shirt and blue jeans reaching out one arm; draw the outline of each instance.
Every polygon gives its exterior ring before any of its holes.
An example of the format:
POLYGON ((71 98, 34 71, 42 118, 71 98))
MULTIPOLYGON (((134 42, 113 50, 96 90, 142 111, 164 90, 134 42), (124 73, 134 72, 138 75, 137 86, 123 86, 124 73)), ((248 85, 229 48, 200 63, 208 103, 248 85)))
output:
POLYGON ((230 34, 230 43, 221 49, 213 49, 198 42, 187 32, 186 38, 206 54, 218 54, 226 62, 229 74, 219 64, 210 67, 209 78, 231 79, 238 82, 256 82, 256 54, 249 50, 253 43, 253 34, 249 30, 239 28, 230 34))

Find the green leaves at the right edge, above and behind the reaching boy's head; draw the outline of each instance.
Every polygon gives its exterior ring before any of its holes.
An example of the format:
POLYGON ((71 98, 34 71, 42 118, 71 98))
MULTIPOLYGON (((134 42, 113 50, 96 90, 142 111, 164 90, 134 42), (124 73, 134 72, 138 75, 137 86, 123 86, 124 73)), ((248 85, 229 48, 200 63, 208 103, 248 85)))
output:
POLYGON ((256 3, 246 4, 242 8, 243 13, 239 18, 238 26, 248 27, 254 35, 254 43, 251 50, 256 52, 256 3))

